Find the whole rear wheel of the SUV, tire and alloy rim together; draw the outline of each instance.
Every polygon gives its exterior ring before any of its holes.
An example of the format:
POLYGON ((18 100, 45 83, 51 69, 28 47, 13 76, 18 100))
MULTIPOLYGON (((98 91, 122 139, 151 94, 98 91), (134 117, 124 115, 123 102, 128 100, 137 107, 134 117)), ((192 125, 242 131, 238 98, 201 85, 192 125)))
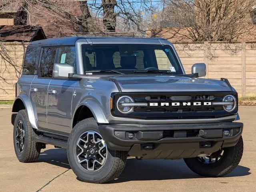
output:
POLYGON ((41 151, 40 143, 33 140, 36 137, 34 129, 28 120, 26 110, 20 110, 16 115, 13 129, 13 142, 16 156, 20 162, 34 162, 41 151))

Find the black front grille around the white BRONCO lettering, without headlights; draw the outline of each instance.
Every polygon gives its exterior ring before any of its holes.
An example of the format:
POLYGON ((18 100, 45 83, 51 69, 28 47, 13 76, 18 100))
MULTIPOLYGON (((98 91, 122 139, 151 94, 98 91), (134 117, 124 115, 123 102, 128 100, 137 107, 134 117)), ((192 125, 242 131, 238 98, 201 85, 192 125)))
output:
POLYGON ((119 92, 113 95, 116 102, 120 96, 128 95, 134 99, 135 103, 148 103, 148 106, 136 106, 134 111, 130 114, 120 113, 114 102, 114 110, 112 114, 114 116, 123 116, 130 118, 141 119, 204 119, 204 118, 218 118, 222 116, 228 116, 236 114, 237 109, 233 112, 226 112, 222 105, 200 105, 196 106, 191 104, 190 106, 171 106, 172 102, 222 102, 224 96, 233 94, 237 98, 236 92, 152 92, 152 93, 125 93, 119 92), (189 99, 189 100, 188 100, 189 99), (150 106, 149 104, 155 102, 158 106, 150 106), (170 106, 161 106, 162 102, 170 103, 170 106))

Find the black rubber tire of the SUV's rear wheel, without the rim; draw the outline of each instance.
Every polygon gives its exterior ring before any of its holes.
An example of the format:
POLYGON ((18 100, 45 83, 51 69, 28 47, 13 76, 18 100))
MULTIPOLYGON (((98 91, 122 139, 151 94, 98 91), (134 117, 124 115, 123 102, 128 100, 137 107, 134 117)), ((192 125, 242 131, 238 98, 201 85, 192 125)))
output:
POLYGON ((16 115, 14 121, 14 129, 13 129, 13 141, 14 141, 14 150, 16 156, 20 162, 30 163, 34 162, 38 159, 41 151, 40 143, 33 140, 33 137, 36 137, 36 133, 34 129, 31 127, 30 122, 28 120, 28 115, 26 110, 20 110, 16 115), (20 152, 18 146, 16 144, 16 127, 19 121, 22 121, 24 125, 24 148, 20 152))

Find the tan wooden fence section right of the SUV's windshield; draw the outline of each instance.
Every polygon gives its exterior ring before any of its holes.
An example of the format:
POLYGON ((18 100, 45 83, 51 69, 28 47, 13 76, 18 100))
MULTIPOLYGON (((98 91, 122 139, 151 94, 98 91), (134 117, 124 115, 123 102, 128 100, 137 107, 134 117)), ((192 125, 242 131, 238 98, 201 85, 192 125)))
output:
POLYGON ((206 78, 228 78, 239 97, 256 96, 256 43, 174 44, 186 70, 194 63, 205 63, 206 78))

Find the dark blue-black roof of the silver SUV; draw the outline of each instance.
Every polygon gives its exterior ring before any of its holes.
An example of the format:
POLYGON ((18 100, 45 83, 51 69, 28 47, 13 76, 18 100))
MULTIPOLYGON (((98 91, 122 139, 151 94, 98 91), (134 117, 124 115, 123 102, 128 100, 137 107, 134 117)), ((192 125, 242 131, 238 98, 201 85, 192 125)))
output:
POLYGON ((166 40, 163 38, 140 38, 140 37, 61 37, 50 38, 40 41, 33 41, 34 44, 55 44, 59 46, 75 45, 78 39, 90 39, 92 43, 146 43, 146 44, 160 44, 159 40, 166 40))

